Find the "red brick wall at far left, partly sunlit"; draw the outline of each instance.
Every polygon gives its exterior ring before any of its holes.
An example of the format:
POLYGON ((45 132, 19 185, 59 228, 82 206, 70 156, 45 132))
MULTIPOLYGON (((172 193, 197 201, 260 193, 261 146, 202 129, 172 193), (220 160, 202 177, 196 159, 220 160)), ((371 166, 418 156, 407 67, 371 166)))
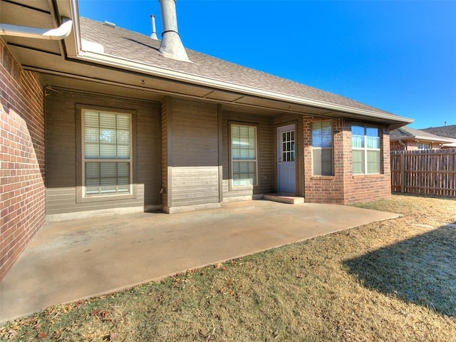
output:
POLYGON ((0 39, 0 280, 45 222, 43 88, 0 39))

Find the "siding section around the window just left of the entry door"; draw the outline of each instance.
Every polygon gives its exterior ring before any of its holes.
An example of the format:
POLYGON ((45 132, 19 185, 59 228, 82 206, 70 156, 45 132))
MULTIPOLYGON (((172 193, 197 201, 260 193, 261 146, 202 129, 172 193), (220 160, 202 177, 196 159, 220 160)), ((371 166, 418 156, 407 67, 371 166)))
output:
POLYGON ((272 118, 262 115, 245 115, 224 111, 222 113, 222 154, 223 154, 223 199, 249 197, 274 192, 274 128, 272 118), (251 189, 230 189, 231 177, 229 154, 230 123, 254 125, 257 127, 257 186, 251 189))

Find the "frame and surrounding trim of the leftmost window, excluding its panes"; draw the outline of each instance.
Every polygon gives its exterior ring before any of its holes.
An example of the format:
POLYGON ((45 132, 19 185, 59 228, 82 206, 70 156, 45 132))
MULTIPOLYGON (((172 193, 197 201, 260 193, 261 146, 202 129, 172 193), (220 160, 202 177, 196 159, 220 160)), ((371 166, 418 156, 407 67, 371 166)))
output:
POLYGON ((78 181, 78 190, 77 190, 77 202, 100 202, 100 201, 109 201, 109 200, 119 200, 119 199, 132 199, 136 198, 136 186, 135 186, 135 162, 134 162, 134 139, 133 139, 133 130, 135 125, 135 111, 133 110, 114 110, 113 108, 103 108, 92 105, 77 105, 78 109, 78 121, 79 121, 79 137, 80 142, 78 143, 78 160, 80 160, 80 167, 78 168, 79 181, 78 181), (86 112, 98 112, 98 113, 107 113, 112 115, 129 115, 130 116, 130 157, 128 159, 103 159, 103 158, 86 158, 85 155, 85 123, 84 123, 84 114, 86 112), (128 182, 128 192, 118 192, 118 193, 106 193, 106 194, 87 194, 86 193, 86 163, 88 162, 128 162, 129 163, 129 182, 128 182))

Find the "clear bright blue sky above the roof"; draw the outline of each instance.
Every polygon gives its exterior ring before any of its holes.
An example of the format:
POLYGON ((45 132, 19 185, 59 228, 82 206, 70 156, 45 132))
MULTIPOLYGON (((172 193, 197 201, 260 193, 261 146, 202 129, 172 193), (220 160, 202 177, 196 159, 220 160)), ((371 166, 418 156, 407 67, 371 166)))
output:
MULTIPOLYGON (((150 35, 158 0, 78 0, 150 35)), ((456 125, 456 1, 177 0, 185 47, 353 98, 411 126, 456 125)))

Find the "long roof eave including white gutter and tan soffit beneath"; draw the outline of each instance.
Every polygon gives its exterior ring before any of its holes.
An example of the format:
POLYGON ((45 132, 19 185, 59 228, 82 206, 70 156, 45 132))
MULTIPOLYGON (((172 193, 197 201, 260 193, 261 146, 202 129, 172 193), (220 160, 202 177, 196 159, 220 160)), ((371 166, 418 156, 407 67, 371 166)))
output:
MULTIPOLYGON (((22 0, 16 2, 19 1, 22 0)), ((40 4, 45 4, 45 1, 39 1, 40 4)), ((36 43, 31 40, 11 40, 7 43, 25 69, 41 73, 43 81, 51 86, 71 88, 71 82, 66 81, 70 79, 84 90, 103 91, 100 87, 103 85, 105 89, 112 90, 113 95, 124 95, 122 89, 125 89, 128 96, 150 100, 173 95, 221 103, 228 110, 241 110, 245 113, 257 113, 255 111, 259 110, 259 113, 266 115, 298 113, 324 118, 351 118, 390 125, 390 129, 413 122, 409 118, 385 112, 241 86, 159 68, 125 57, 83 51, 77 0, 46 2, 49 8, 45 12, 53 21, 53 28, 61 24, 62 17, 73 20, 70 36, 49 48, 35 46, 36 43)))

